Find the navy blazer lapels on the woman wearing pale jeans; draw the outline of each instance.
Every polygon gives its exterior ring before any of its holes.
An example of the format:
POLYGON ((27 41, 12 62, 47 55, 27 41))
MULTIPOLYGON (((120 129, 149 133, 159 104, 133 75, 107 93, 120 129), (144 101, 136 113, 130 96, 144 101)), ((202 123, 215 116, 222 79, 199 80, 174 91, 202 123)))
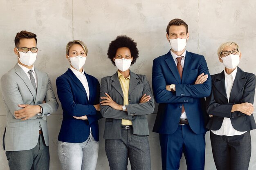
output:
POLYGON ((76 75, 73 73, 72 70, 70 70, 70 68, 67 69, 67 75, 70 76, 70 78, 72 79, 72 81, 77 85, 79 86, 79 88, 81 88, 81 90, 83 91, 83 93, 85 94, 86 96, 86 99, 88 101, 90 101, 90 99, 92 98, 92 95, 93 94, 93 90, 92 90, 92 80, 90 79, 90 77, 88 76, 88 74, 85 73, 85 71, 83 72, 86 76, 86 79, 87 79, 87 82, 88 82, 88 86, 89 86, 89 91, 90 91, 90 96, 89 96, 89 99, 88 99, 88 96, 87 96, 87 93, 85 91, 85 88, 83 87, 83 84, 80 82, 80 80, 76 77, 76 75))

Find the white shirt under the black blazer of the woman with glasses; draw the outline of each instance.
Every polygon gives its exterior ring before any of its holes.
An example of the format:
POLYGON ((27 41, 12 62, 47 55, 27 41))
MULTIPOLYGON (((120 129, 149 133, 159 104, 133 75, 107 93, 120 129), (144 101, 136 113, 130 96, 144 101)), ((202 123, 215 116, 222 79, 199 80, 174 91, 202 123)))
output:
MULTIPOLYGON (((225 74, 225 88, 226 88, 226 93, 227 93, 227 100, 229 102, 229 97, 230 97, 230 92, 233 87, 234 80, 236 78, 236 73, 237 73, 237 67, 236 69, 231 73, 227 74, 226 71, 224 70, 225 74)), ((235 135, 242 135, 245 132, 240 132, 236 129, 231 124, 230 118, 224 117, 222 125, 219 130, 211 130, 215 135, 225 135, 225 136, 235 136, 235 135)))

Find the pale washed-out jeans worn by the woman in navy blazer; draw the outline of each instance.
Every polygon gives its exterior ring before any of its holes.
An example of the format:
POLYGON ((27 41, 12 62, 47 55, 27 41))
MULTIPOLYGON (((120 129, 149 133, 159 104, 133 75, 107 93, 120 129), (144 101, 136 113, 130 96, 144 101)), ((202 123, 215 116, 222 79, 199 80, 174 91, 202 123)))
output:
POLYGON ((83 143, 58 141, 58 157, 62 170, 95 170, 99 152, 99 142, 92 133, 83 143))

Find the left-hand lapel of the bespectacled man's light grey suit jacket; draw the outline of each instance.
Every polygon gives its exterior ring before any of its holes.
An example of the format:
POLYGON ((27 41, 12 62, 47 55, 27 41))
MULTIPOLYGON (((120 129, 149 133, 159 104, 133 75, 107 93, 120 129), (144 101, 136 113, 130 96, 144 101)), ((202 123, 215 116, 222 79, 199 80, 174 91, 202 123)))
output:
POLYGON ((23 82, 27 85, 27 88, 29 88, 29 91, 31 92, 31 94, 33 95, 34 101, 36 101, 36 91, 33 87, 33 85, 31 84, 29 77, 27 77, 27 74, 22 70, 22 68, 20 68, 20 66, 18 64, 16 64, 14 66, 15 70, 16 70, 16 74, 23 80, 23 82))

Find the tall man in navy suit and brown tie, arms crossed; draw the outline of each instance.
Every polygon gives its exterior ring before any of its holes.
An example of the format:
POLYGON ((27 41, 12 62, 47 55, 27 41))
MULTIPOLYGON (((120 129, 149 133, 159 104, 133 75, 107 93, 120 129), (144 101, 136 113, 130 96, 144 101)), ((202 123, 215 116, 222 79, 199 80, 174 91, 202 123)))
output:
POLYGON ((159 133, 162 169, 178 170, 182 152, 188 170, 204 170, 205 125, 209 120, 204 97, 211 77, 204 56, 186 51, 188 25, 171 20, 166 29, 171 45, 153 61, 152 85, 159 103, 153 132, 159 133))

